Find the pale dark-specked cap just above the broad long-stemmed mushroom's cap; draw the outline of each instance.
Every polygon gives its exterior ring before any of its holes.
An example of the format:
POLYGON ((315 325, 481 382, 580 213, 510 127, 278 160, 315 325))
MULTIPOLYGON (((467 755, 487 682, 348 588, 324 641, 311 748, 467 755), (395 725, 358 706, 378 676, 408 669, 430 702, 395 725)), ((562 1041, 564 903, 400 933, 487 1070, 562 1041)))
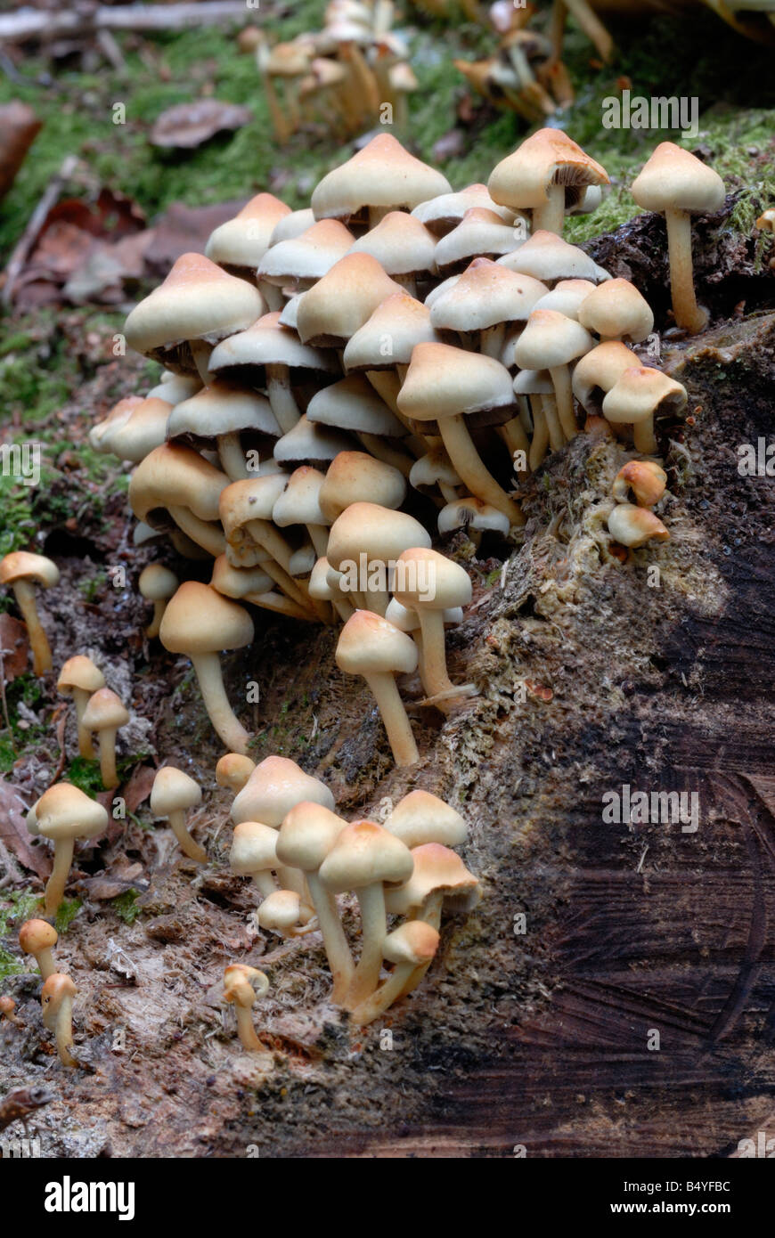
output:
POLYGON ((431 322, 439 331, 484 331, 503 322, 526 322, 548 293, 540 280, 477 258, 454 287, 433 301, 431 322))

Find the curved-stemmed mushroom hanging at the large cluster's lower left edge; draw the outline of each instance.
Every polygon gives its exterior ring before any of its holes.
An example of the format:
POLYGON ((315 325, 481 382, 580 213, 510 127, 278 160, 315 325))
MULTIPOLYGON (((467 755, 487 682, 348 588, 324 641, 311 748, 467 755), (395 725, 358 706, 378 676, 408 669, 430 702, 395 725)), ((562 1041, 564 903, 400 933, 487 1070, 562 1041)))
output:
POLYGON ((167 605, 158 633, 165 649, 191 659, 213 727, 229 751, 241 755, 250 735, 229 704, 218 651, 243 649, 253 643, 254 635, 253 619, 243 607, 198 581, 181 584, 167 605))

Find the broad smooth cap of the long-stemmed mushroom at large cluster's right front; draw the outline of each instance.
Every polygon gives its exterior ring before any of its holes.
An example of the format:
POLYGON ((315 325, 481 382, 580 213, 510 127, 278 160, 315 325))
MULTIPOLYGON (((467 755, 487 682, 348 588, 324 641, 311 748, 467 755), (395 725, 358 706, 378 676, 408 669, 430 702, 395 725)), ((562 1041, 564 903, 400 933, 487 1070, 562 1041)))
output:
POLYGON ((493 357, 449 344, 417 344, 399 409, 415 421, 514 407, 511 375, 493 357))

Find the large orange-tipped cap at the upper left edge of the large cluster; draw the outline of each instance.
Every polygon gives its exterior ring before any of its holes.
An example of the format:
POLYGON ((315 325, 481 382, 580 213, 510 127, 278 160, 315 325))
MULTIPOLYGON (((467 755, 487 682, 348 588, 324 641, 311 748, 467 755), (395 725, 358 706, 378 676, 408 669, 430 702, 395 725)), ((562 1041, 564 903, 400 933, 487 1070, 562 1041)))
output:
POLYGON ((183 254, 163 284, 135 306, 126 343, 150 354, 180 340, 215 343, 244 331, 264 313, 264 298, 245 280, 228 275, 203 254, 183 254))

